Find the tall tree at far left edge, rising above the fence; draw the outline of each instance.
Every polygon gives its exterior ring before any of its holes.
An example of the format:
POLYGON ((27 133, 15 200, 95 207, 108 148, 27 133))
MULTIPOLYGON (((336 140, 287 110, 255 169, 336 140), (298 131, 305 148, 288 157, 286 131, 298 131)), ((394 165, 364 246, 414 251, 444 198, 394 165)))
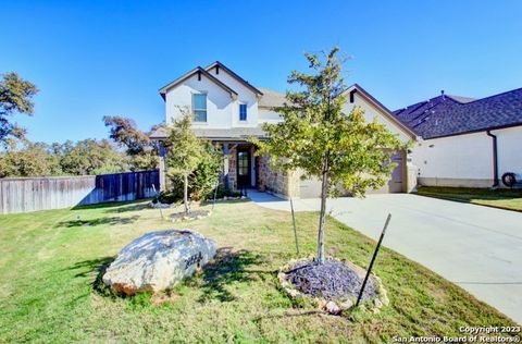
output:
POLYGON ((13 146, 17 139, 25 139, 26 131, 10 122, 16 112, 33 115, 32 98, 38 93, 35 85, 21 78, 16 73, 7 73, 0 81, 0 145, 13 146))

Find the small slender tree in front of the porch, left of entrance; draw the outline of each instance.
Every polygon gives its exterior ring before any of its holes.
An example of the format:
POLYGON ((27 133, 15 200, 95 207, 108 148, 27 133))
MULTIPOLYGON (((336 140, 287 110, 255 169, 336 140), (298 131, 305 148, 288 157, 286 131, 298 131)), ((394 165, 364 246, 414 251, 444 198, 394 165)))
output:
POLYGON ((204 146, 192 132, 192 114, 188 109, 182 108, 182 116, 174 121, 165 142, 166 173, 171 176, 183 177, 183 204, 185 212, 190 212, 188 207, 188 176, 198 167, 204 156, 204 146))

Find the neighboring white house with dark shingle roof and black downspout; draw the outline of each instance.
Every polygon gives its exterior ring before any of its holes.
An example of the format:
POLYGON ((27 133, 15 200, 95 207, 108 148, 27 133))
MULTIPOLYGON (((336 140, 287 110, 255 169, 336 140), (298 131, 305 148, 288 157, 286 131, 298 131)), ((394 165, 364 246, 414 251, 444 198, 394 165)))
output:
POLYGON ((423 138, 411 153, 421 185, 497 187, 522 173, 522 88, 482 99, 443 91, 394 113, 423 138))

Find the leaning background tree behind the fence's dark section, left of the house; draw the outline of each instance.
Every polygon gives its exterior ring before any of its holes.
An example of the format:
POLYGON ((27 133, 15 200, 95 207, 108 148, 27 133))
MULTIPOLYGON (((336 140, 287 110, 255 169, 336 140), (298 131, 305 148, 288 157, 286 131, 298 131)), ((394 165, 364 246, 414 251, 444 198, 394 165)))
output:
POLYGON ((132 159, 133 170, 151 170, 158 168, 158 147, 141 132, 136 123, 127 118, 105 115, 105 126, 110 127, 109 137, 126 148, 126 153, 132 159))

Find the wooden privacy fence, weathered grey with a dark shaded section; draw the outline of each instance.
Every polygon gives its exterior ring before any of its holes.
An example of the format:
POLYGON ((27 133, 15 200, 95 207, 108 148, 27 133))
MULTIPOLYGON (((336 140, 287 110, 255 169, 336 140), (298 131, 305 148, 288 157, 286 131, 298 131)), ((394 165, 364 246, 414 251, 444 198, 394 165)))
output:
POLYGON ((158 170, 85 176, 0 179, 0 213, 27 212, 152 197, 158 170))

